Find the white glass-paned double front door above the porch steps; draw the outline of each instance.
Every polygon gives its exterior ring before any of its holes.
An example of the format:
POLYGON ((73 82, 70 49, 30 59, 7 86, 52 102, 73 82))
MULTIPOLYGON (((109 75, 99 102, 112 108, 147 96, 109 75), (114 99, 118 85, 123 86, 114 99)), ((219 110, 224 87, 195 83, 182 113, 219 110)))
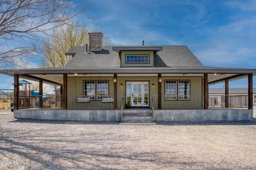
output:
POLYGON ((148 105, 148 82, 127 82, 126 103, 134 106, 148 105))

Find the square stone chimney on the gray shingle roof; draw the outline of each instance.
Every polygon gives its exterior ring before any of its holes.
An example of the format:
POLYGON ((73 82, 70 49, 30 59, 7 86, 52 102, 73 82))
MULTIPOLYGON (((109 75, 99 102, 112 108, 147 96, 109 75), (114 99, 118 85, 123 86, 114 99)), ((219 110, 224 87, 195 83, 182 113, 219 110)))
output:
POLYGON ((89 51, 98 52, 102 50, 102 33, 90 32, 89 34, 89 51))

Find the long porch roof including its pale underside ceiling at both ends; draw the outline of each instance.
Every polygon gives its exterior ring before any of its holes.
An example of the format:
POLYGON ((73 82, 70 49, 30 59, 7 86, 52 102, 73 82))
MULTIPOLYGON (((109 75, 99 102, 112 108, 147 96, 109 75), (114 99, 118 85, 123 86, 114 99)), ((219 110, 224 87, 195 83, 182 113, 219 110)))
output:
MULTIPOLYGON (((0 73, 6 75, 19 74, 21 78, 29 80, 42 79, 46 83, 58 84, 59 81, 63 80, 63 74, 69 74, 69 76, 74 76, 74 73, 81 74, 94 74, 97 76, 113 76, 113 74, 129 76, 147 76, 154 77, 158 73, 162 73, 162 76, 173 76, 182 77, 183 73, 187 76, 202 76, 204 73, 209 73, 209 84, 219 83, 229 80, 237 80, 246 78, 247 74, 253 73, 256 75, 256 69, 242 69, 242 68, 228 68, 228 67, 207 67, 207 66, 176 66, 176 67, 107 67, 104 69, 87 67, 86 69, 71 69, 71 68, 41 68, 41 69, 17 69, 17 70, 0 70, 0 73), (214 75, 217 73, 217 75, 214 75), (224 76, 221 74, 225 74, 224 76), (47 77, 43 77, 42 74, 47 74, 47 77), (98 75, 97 75, 98 74, 98 75), (100 74, 100 75, 99 75, 100 74), (111 75, 112 74, 112 75, 111 75)), ((92 75, 92 76, 94 76, 92 75)))

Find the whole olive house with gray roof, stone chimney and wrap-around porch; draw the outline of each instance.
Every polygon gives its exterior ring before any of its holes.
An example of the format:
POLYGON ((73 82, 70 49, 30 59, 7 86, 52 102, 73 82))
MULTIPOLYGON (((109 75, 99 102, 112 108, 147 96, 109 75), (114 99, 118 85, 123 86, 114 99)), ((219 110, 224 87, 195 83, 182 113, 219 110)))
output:
POLYGON ((14 76, 16 118, 116 122, 252 119, 256 69, 204 66, 187 46, 102 46, 101 32, 89 33, 89 46, 73 47, 66 55, 73 57, 63 68, 0 71, 14 76), (19 95, 19 78, 39 81, 39 95, 19 95), (228 82, 241 78, 248 78, 249 92, 240 103, 209 107, 209 84, 225 82, 228 101, 232 98, 228 82), (60 95, 43 96, 43 83, 60 86, 60 95), (58 98, 61 104, 45 104, 48 98, 58 98))

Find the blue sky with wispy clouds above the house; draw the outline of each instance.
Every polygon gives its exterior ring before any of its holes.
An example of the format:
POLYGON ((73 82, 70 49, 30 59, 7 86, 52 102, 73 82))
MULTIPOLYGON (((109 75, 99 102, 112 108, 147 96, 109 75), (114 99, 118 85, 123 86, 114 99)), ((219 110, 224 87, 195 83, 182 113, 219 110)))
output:
MULTIPOLYGON (((113 45, 187 45, 204 65, 256 68, 256 1, 91 2, 76 20, 98 28, 113 45)), ((12 83, 0 80, 2 88, 12 83)), ((230 87, 247 87, 247 79, 230 87)))

